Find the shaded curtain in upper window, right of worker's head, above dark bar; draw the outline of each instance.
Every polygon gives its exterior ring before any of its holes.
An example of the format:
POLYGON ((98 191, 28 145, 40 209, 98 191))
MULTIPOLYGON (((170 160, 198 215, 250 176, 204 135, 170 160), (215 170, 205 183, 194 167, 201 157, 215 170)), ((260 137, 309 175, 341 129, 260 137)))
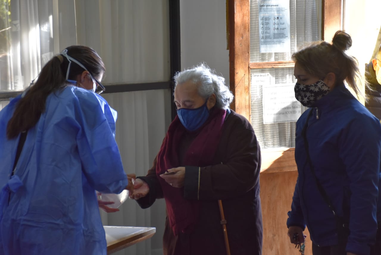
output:
POLYGON ((106 65, 104 83, 170 80, 167 0, 75 0, 78 44, 106 65))

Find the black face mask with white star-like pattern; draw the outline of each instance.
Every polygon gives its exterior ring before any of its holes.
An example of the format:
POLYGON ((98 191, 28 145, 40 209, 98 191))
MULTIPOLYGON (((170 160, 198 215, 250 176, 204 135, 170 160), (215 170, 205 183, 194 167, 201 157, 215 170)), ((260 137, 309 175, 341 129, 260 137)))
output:
POLYGON ((296 83, 294 90, 296 100, 305 107, 312 107, 317 100, 330 92, 330 87, 320 80, 311 85, 296 83))

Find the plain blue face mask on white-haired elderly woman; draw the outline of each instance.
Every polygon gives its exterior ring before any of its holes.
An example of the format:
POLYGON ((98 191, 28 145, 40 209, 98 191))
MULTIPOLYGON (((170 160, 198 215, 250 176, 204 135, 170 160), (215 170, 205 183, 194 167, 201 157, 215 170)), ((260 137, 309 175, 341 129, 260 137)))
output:
POLYGON ((207 121, 209 117, 207 102, 208 100, 199 108, 180 108, 177 110, 180 122, 187 130, 195 131, 207 121))

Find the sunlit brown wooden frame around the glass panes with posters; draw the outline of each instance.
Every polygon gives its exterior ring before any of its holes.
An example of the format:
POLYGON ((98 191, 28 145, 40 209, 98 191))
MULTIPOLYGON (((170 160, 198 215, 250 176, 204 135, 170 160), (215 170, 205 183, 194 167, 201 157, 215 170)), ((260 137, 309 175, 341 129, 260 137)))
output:
MULTIPOLYGON (((230 89, 234 94, 231 109, 251 119, 250 69, 294 67, 293 61, 250 63, 250 0, 227 0, 230 89)), ((343 0, 322 0, 322 40, 331 42, 343 29, 343 0)), ((262 151, 261 171, 296 170, 295 148, 262 151), (280 160, 282 158, 282 160, 280 160), (274 162, 279 162, 278 164, 274 162)))

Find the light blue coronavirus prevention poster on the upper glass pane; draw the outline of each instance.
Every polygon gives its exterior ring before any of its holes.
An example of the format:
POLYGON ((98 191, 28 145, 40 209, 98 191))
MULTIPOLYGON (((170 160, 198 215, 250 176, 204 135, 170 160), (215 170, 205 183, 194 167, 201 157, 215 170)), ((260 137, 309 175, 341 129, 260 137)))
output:
POLYGON ((259 0, 259 52, 290 52, 290 1, 259 0))

